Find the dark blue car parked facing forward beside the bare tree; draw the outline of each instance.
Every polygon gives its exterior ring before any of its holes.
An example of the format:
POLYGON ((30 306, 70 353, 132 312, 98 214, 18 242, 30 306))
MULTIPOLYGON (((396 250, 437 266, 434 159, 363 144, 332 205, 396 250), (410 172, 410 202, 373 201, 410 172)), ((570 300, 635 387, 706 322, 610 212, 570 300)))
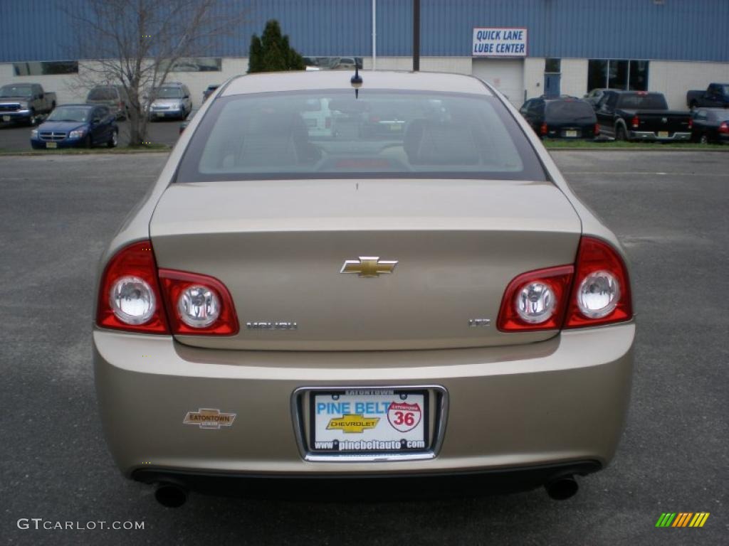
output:
POLYGON ((31 131, 34 149, 91 148, 106 144, 114 148, 119 142, 119 127, 106 106, 64 104, 31 131))

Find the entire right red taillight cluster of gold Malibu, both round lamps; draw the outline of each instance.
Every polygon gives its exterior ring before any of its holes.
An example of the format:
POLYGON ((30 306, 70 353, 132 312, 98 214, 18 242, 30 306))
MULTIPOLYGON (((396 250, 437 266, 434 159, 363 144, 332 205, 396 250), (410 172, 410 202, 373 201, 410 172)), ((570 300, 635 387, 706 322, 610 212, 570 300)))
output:
POLYGON ((538 269, 509 283, 496 325, 502 332, 544 331, 631 317, 630 280, 623 259, 607 242, 582 237, 574 266, 538 269))

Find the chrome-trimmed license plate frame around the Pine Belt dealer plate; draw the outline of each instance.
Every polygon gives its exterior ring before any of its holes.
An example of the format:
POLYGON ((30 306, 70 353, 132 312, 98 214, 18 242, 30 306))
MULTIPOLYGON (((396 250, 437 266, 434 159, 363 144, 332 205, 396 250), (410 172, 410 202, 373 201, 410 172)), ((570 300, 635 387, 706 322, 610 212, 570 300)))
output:
MULTIPOLYGON (((443 432, 445 431, 445 422, 448 416, 448 392, 444 387, 439 385, 407 385, 407 386, 346 386, 346 387, 300 387, 292 393, 292 419, 294 420, 296 440, 300 453, 303 459, 307 461, 317 462, 343 462, 343 461, 396 461, 396 460, 413 460, 413 459, 432 459, 437 456, 440 450, 440 445, 443 440, 443 432), (380 440, 378 436, 381 436, 383 432, 391 431, 389 427, 394 427, 394 424, 390 422, 387 414, 378 414, 380 421, 377 427, 371 427, 371 422, 366 422, 371 416, 364 414, 362 416, 365 422, 356 422, 355 425, 363 425, 364 427, 370 427, 368 430, 372 431, 373 434, 363 435, 355 433, 351 436, 351 442, 360 441, 362 442, 359 446, 334 446, 330 444, 324 446, 321 443, 319 445, 316 442, 328 441, 322 440, 321 435, 316 434, 316 403, 317 400, 327 399, 331 400, 332 395, 338 395, 342 402, 352 402, 352 398, 348 397, 362 397, 362 402, 366 403, 374 402, 373 398, 367 400, 367 397, 375 395, 379 396, 381 403, 386 402, 388 397, 391 398, 391 402, 397 400, 397 403, 422 403, 421 407, 421 418, 416 423, 416 427, 413 427, 415 435, 408 435, 408 432, 400 432, 399 430, 391 432, 390 437, 383 436, 383 440, 380 440), (400 398, 400 395, 407 395, 405 400, 400 398), (409 401, 408 401, 409 398, 409 401), (400 444, 397 447, 393 446, 394 438, 397 436, 399 440, 416 440, 417 435, 421 435, 421 444, 413 444, 413 446, 407 446, 400 444), (355 438, 356 437, 356 438, 355 438), (374 441, 389 441, 391 443, 376 444, 374 441), (364 446, 364 443, 370 443, 364 446), (364 446, 364 448, 363 448, 364 446)), ((354 409, 354 408, 353 408, 354 409)), ((395 408, 397 409, 397 408, 395 408)), ((381 408, 382 412, 382 408, 381 408)), ((340 421, 344 419, 343 414, 333 415, 331 421, 335 422, 335 429, 340 428, 340 421)), ((321 416, 320 416, 321 418, 321 416)), ((327 415, 323 418, 329 419, 327 415)), ((321 432, 322 421, 319 421, 319 431, 321 432)), ((349 422, 347 423, 349 424, 349 422)), ((407 425, 403 425, 407 428, 407 425)), ((345 433, 342 431, 336 431, 335 434, 329 437, 344 439, 345 433)), ((350 438, 346 438, 350 440, 350 438)))

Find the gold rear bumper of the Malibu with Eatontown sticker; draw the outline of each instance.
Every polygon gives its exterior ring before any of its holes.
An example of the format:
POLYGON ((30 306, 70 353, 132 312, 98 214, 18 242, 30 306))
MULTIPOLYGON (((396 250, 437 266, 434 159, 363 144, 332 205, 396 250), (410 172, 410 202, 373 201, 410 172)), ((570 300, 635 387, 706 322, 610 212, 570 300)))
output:
MULTIPOLYGON (((628 407, 635 325, 479 349, 266 352, 195 349, 168 336, 95 330, 95 382, 120 470, 279 477, 443 474, 590 462, 604 467, 628 407), (297 446, 301 387, 439 385, 449 407, 432 459, 311 462, 297 446), (183 424, 235 413, 233 426, 183 424)), ((155 478, 156 479, 156 478, 155 478)))

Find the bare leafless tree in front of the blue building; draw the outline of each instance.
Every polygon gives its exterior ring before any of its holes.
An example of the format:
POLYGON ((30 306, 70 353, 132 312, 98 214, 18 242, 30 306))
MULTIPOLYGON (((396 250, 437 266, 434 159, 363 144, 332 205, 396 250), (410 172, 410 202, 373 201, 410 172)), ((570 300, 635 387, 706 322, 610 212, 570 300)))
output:
POLYGON ((74 21, 79 86, 114 84, 129 96, 130 146, 144 143, 149 104, 177 61, 214 52, 234 33, 245 10, 231 14, 221 0, 84 0, 63 9, 74 21))

